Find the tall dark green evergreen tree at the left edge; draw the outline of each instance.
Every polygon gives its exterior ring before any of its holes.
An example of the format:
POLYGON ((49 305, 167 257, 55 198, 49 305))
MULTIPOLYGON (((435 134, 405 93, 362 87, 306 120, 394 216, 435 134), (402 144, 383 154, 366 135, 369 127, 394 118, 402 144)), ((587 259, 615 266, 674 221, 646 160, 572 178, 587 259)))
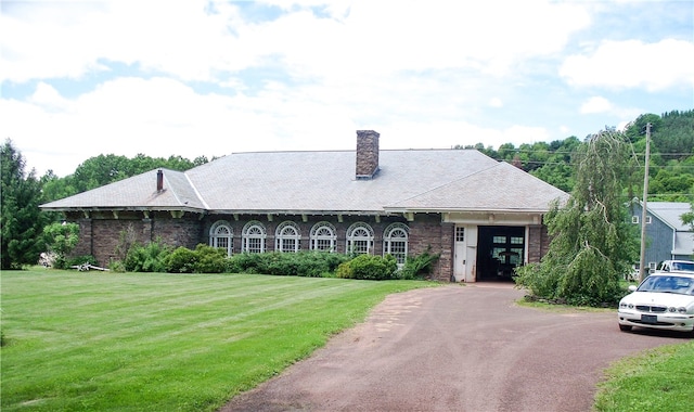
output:
POLYGON ((41 184, 31 170, 25 173, 26 163, 8 139, 0 147, 2 186, 0 192, 0 269, 21 269, 38 262, 43 252, 41 232, 46 215, 39 209, 41 184))

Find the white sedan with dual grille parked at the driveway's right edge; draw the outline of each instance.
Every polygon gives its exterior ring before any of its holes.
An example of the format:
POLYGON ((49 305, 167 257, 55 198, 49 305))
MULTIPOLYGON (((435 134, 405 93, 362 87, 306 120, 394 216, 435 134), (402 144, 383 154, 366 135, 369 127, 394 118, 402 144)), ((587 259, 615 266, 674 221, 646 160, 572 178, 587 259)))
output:
POLYGON ((694 273, 654 273, 629 291, 619 301, 619 330, 638 326, 694 335, 694 273))

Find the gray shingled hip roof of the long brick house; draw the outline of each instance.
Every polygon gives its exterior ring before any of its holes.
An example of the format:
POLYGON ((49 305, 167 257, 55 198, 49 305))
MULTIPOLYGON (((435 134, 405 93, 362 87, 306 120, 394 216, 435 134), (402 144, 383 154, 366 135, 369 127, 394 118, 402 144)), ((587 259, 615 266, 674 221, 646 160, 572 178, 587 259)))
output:
POLYGON ((381 151, 372 180, 355 151, 232 154, 187 172, 156 170, 43 205, 47 209, 202 209, 210 213, 543 211, 566 193, 475 150, 381 151))

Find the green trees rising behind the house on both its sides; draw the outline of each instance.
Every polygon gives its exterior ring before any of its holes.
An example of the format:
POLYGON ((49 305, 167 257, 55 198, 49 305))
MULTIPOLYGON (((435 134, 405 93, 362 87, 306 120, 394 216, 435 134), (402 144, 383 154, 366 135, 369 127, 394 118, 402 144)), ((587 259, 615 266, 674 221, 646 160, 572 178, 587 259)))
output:
MULTIPOLYGON (((660 116, 644 114, 619 133, 631 147, 637 169, 629 177, 643 179, 645 154, 645 125, 651 124, 652 155, 650 162, 648 198, 666 202, 693 202, 694 198, 694 110, 672 111, 660 116)), ((612 129, 614 131, 614 128, 612 129)), ((566 192, 576 185, 577 156, 591 137, 582 141, 576 137, 550 143, 537 142, 502 144, 499 149, 485 147, 481 143, 455 149, 476 149, 488 156, 509 162, 523 170, 566 192)), ((35 170, 26 170, 22 154, 8 139, 1 146, 2 171, 1 214, 1 267, 20 268, 34 265, 46 250, 41 240, 43 228, 60 221, 61 216, 41 211, 43 203, 64 198, 156 168, 188 170, 209 162, 200 156, 191 160, 181 156, 169 158, 138 154, 132 158, 114 154, 91 157, 80 164, 73 175, 57 177, 49 170, 37 177, 35 170)), ((213 158, 214 160, 215 158, 213 158)), ((622 201, 641 197, 641 189, 625 184, 622 201)))

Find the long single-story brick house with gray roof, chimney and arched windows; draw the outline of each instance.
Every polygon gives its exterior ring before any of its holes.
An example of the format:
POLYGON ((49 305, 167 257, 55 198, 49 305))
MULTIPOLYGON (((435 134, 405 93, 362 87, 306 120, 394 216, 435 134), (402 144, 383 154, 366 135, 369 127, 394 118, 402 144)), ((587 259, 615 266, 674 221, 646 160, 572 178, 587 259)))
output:
POLYGON ((152 170, 41 205, 79 223, 75 250, 100 265, 123 233, 239 253, 390 254, 430 247, 434 276, 511 279, 549 245, 542 216, 565 192, 476 150, 384 150, 357 131, 356 151, 235 153, 188 171, 152 170))

